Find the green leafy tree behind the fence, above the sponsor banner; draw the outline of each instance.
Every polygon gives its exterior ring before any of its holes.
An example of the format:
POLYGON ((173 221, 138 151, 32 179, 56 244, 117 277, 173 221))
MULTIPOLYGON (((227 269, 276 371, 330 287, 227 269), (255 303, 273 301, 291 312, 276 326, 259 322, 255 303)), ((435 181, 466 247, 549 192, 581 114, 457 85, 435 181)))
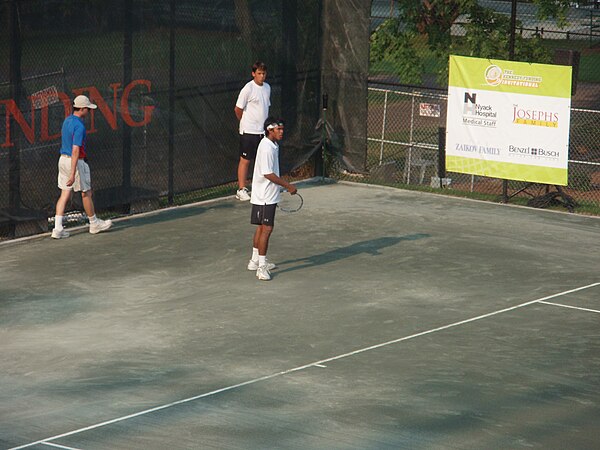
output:
MULTIPOLYGON (((540 19, 556 18, 566 24, 568 0, 533 0, 540 19)), ((399 17, 383 22, 371 35, 371 61, 392 63, 403 83, 422 83, 423 61, 419 47, 426 46, 438 61, 438 83, 447 80, 451 53, 482 58, 509 58, 509 17, 482 7, 477 0, 405 0, 398 2, 399 17), (465 36, 452 36, 452 26, 461 19, 465 36)), ((517 28, 521 26, 517 24, 517 28)), ((549 52, 540 45, 540 36, 515 37, 514 59, 550 61, 549 52)))

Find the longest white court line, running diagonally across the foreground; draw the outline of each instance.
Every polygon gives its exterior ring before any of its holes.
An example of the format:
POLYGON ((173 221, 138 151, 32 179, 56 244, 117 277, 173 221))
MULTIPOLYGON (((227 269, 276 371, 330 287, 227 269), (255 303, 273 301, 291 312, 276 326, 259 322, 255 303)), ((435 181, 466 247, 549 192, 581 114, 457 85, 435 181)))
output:
POLYGON ((436 333, 438 331, 447 330, 449 328, 454 328, 454 327, 457 327, 457 326, 460 326, 460 325, 464 325, 466 323, 475 322, 477 320, 486 319, 488 317, 496 316, 498 314, 502 314, 502 313, 505 313, 505 312, 508 312, 508 311, 513 311, 515 309, 523 308, 525 306, 533 305, 535 303, 540 303, 540 302, 543 302, 543 301, 546 301, 546 300, 550 300, 551 298, 556 298, 556 297, 561 297, 563 295, 572 294, 574 292, 582 291, 584 289, 589 289, 589 288, 592 288, 592 287, 595 287, 595 286, 600 286, 600 282, 588 284, 587 286, 581 286, 581 287, 578 287, 578 288, 575 288, 575 289, 570 289, 568 291, 559 292, 558 294, 552 294, 552 295, 549 295, 547 297, 538 298, 537 300, 531 300, 531 301, 528 301, 528 302, 525 302, 525 303, 521 303, 519 305, 511 306, 511 307, 508 307, 508 308, 499 309, 497 311, 493 311, 491 313, 483 314, 481 316, 476 316, 476 317, 472 317, 470 319, 461 320, 460 322, 454 322, 454 323, 451 323, 449 325, 444 325, 444 326, 441 326, 441 327, 438 327, 438 328, 432 328, 431 330, 422 331, 422 332, 416 333, 416 334, 411 334, 410 336, 405 336, 403 338, 394 339, 392 341, 387 341, 387 342, 383 342, 381 344, 372 345, 370 347, 365 347, 365 348, 362 348, 360 350, 355 350, 353 352, 343 353, 343 354, 338 355, 338 356, 333 356, 331 358, 322 359, 320 361, 315 361, 315 362, 312 362, 310 364, 305 364, 304 366, 295 367, 293 369, 284 370, 282 372, 273 373, 271 375, 265 375, 264 377, 255 378, 253 380, 244 381, 243 383, 238 383, 238 384, 234 384, 232 386, 227 386, 227 387, 224 387, 224 388, 221 388, 221 389, 217 389, 217 390, 214 390, 214 391, 206 392, 204 394, 196 395, 195 397, 190 397, 190 398, 186 398, 186 399, 183 399, 183 400, 178 400, 176 402, 168 403, 166 405, 157 406, 155 408, 146 409, 144 411, 140 411, 140 412, 137 412, 137 413, 134 413, 134 414, 129 414, 127 416, 118 417, 118 418, 112 419, 112 420, 107 420, 106 422, 101 422, 101 423, 97 423, 95 425, 90 425, 90 426, 85 427, 85 428, 80 428, 78 430, 69 431, 68 433, 59 434, 59 435, 52 436, 52 437, 49 437, 49 438, 46 438, 46 439, 42 439, 42 440, 39 440, 39 441, 36 441, 36 442, 31 442, 29 444, 21 445, 19 447, 13 447, 13 448, 11 448, 9 450, 19 450, 19 449, 22 449, 22 448, 32 447, 32 446, 37 445, 37 444, 48 444, 49 441, 55 441, 57 439, 61 439, 61 438, 67 437, 67 436, 72 436, 74 434, 83 433, 85 431, 94 430, 96 428, 105 427, 107 425, 112 425, 112 424, 115 424, 115 423, 118 423, 118 422, 124 422, 125 420, 133 419, 135 417, 143 416, 143 415, 150 414, 150 413, 153 413, 153 412, 156 412, 156 411, 161 411, 163 409, 171 408, 172 406, 181 405, 183 403, 189 403, 189 402, 192 402, 194 400, 198 400, 198 399, 205 398, 205 397, 210 397, 212 395, 220 394, 222 392, 232 391, 234 389, 237 389, 237 388, 240 388, 240 387, 243 387, 243 386, 248 386, 250 384, 255 384, 255 383, 259 383, 261 381, 270 380, 272 378, 280 377, 282 375, 287 375, 287 374, 290 374, 290 373, 298 372, 300 370, 305 370, 305 369, 308 369, 310 367, 315 367, 315 366, 316 367, 321 367, 321 366, 325 365, 325 363, 328 363, 328 362, 331 362, 331 361, 336 361, 336 360, 339 360, 339 359, 347 358, 349 356, 358 355, 360 353, 368 352, 370 350, 374 350, 374 349, 381 348, 381 347, 386 347, 388 345, 397 344, 398 342, 408 341, 409 339, 414 339, 414 338, 417 338, 417 337, 420 337, 420 336, 425 336, 425 335, 428 335, 428 334, 436 333))

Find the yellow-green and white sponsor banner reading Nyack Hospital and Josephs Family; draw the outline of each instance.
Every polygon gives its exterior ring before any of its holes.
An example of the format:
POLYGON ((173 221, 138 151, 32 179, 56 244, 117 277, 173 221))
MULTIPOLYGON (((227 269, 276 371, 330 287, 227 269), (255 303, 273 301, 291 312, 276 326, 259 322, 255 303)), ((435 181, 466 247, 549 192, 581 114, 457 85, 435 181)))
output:
POLYGON ((567 184, 570 67, 451 56, 450 78, 448 171, 567 184), (501 67, 502 73, 487 70, 491 65, 501 67), (507 67, 511 82, 518 75, 523 83, 536 86, 504 83, 507 67), (561 83, 553 79, 544 84, 555 75, 561 83), (565 92, 569 96, 565 97, 565 92))

